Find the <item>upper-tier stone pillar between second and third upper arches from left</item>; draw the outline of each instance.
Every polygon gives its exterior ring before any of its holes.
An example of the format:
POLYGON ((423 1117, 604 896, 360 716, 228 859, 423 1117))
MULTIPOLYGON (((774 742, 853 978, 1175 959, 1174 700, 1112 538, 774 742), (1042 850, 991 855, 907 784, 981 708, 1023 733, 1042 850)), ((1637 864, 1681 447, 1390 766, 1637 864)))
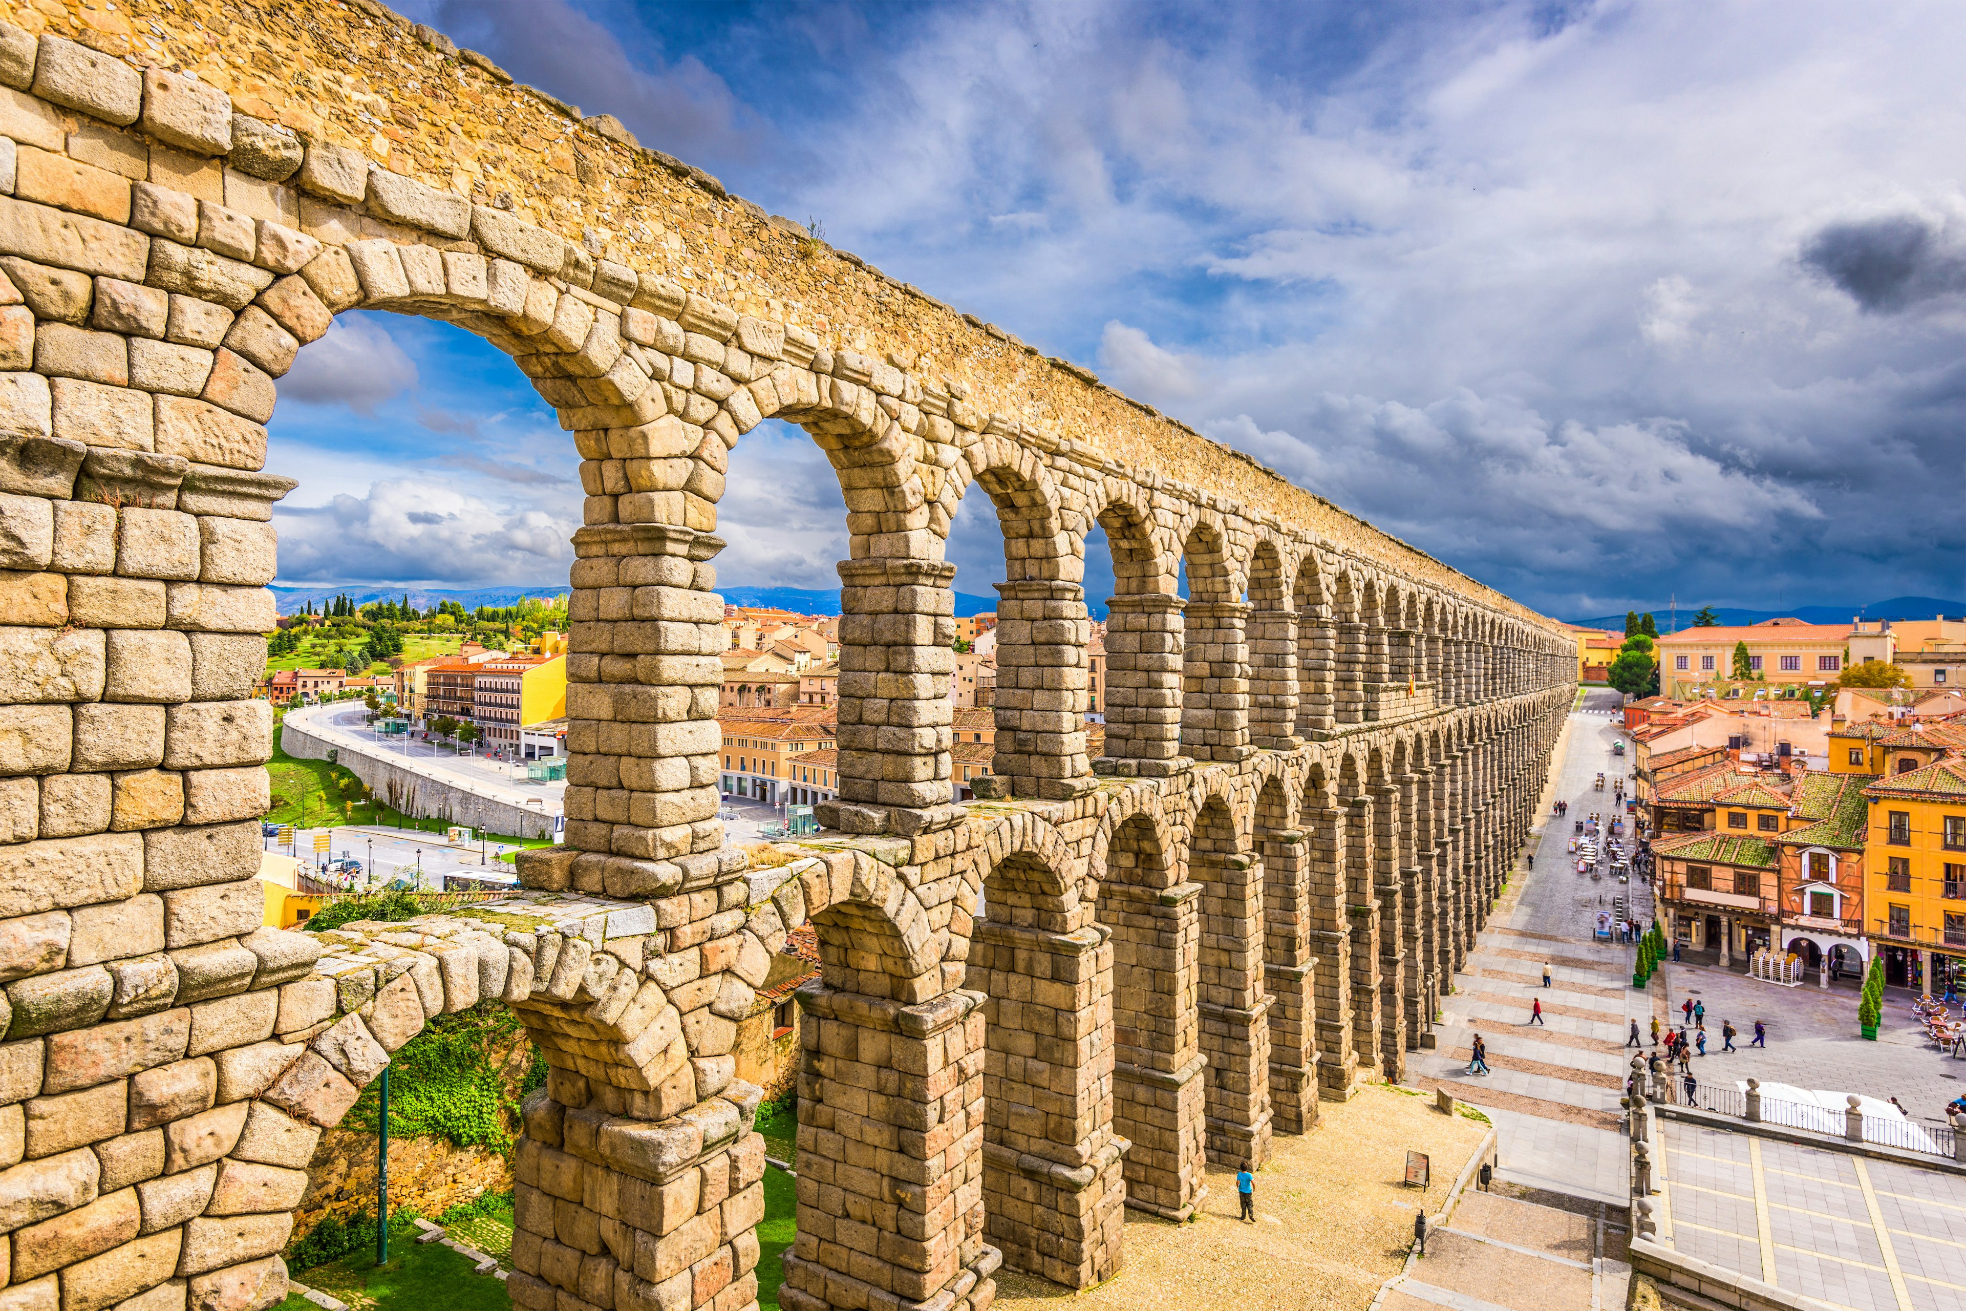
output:
POLYGON ((950 786, 955 566, 839 562, 839 800, 826 827, 920 833, 965 812, 950 786))

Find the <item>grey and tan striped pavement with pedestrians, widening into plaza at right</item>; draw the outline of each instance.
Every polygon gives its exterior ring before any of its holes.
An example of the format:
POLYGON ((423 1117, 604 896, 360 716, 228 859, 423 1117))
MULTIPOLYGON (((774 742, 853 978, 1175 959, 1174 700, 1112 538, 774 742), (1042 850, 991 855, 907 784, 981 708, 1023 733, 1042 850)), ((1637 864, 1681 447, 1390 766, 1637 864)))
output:
POLYGON ((1455 977, 1455 993, 1443 998, 1439 1050, 1417 1054, 1414 1079, 1453 1085, 1494 1118, 1502 1177, 1622 1201, 1626 1146, 1616 1112, 1634 1055, 1630 1022, 1638 1020, 1649 1052, 1653 1008, 1661 1024, 1677 1022, 1677 1006, 1693 997, 1706 1004, 1708 1055, 1693 1063, 1703 1083, 1732 1087, 1754 1077, 1897 1097, 1913 1118, 1942 1124, 1944 1105, 1966 1093, 1966 1061, 1925 1042, 1911 1024, 1909 991, 1887 989, 1883 1032, 1866 1042, 1856 1030, 1854 979, 1785 989, 1708 957, 1669 963, 1649 991, 1634 993, 1632 949, 1592 941, 1596 912, 1610 910, 1618 892, 1630 896, 1640 922, 1651 920, 1642 881, 1590 881, 1573 873, 1567 851, 1575 818, 1612 810, 1608 786, 1592 788, 1596 772, 1608 780, 1626 770, 1628 757, 1610 755, 1618 731, 1604 702, 1614 700, 1587 692, 1571 715, 1551 796, 1569 800, 1571 812, 1555 820, 1545 804, 1543 829, 1530 837, 1535 871, 1518 869, 1455 977), (1553 965, 1551 989, 1539 987, 1543 961, 1553 965), (1530 1024, 1533 998, 1543 1002, 1543 1024, 1530 1024), (1722 1020, 1740 1030, 1732 1054, 1720 1050, 1722 1020), (1748 1048, 1756 1020, 1767 1026, 1765 1050, 1748 1048), (1488 1044, 1490 1075, 1467 1073, 1476 1032, 1488 1044))

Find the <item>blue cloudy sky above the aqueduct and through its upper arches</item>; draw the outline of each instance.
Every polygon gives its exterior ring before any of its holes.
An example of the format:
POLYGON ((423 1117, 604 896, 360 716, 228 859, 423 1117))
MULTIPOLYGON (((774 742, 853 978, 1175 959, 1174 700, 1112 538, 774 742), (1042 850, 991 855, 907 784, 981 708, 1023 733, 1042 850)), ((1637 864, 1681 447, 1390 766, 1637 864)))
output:
MULTIPOLYGON (((1966 8, 397 8, 1545 613, 1966 596, 1966 8)), ((564 584, 493 348, 344 314, 281 397, 281 582, 564 584)), ((720 515, 725 586, 838 586, 804 434, 720 515)))

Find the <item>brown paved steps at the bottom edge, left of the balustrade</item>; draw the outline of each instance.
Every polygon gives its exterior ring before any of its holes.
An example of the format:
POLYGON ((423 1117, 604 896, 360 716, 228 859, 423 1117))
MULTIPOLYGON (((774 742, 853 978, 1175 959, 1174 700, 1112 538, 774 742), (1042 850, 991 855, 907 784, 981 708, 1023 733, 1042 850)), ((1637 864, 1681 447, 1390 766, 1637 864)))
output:
POLYGON ((1628 1240, 1624 1209, 1498 1181, 1461 1197, 1372 1311, 1622 1311, 1628 1240))

